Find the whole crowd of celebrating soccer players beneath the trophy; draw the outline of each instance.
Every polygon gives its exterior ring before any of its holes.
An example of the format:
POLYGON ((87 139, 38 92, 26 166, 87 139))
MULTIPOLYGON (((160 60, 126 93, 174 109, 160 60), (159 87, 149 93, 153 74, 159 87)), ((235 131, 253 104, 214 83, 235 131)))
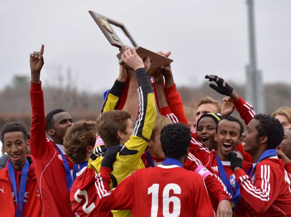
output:
POLYGON ((223 104, 183 108, 171 67, 151 78, 133 48, 101 115, 74 123, 45 115, 43 53, 30 54, 31 134, 1 130, 1 216, 291 216, 291 108, 256 114, 216 75, 205 78, 223 104))

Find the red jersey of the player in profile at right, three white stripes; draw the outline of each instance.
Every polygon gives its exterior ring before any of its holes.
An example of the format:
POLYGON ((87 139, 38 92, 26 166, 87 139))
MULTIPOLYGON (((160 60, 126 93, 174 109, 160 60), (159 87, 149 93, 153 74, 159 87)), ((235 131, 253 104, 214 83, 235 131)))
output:
POLYGON ((250 178, 242 169, 236 170, 242 198, 255 216, 291 216, 291 176, 278 157, 269 157, 259 162, 250 178))

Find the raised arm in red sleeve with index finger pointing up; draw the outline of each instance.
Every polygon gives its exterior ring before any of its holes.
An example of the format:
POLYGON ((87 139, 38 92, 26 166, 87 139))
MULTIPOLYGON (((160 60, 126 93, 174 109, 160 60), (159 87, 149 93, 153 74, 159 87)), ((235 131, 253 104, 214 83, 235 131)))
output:
POLYGON ((29 143, 32 156, 36 159, 45 157, 51 150, 51 147, 47 145, 48 141, 45 135, 45 111, 40 81, 40 71, 44 64, 43 52, 44 45, 39 52, 34 51, 30 54, 32 122, 29 143))

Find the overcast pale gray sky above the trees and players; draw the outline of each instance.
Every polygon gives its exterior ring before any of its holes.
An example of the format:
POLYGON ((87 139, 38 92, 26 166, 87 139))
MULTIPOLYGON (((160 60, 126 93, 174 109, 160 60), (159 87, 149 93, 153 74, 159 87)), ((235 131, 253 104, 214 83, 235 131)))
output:
MULTIPOLYGON (((291 1, 255 0, 258 68, 264 82, 291 82, 291 1)), ((91 18, 92 10, 125 24, 139 46, 172 51, 176 84, 205 74, 243 84, 249 62, 246 0, 50 0, 0 4, 1 87, 30 76, 29 54, 45 44, 41 79, 71 68, 82 90, 104 91, 119 73, 119 50, 91 18)))

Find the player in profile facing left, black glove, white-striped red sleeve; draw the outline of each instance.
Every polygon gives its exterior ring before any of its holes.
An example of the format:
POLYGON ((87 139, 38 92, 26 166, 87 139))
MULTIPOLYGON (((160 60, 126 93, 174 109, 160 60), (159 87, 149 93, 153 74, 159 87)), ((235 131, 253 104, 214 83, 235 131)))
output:
POLYGON ((278 119, 255 115, 243 133, 244 148, 256 162, 245 172, 238 153, 229 153, 242 198, 255 216, 291 216, 290 174, 284 162, 276 156, 284 130, 278 119))

